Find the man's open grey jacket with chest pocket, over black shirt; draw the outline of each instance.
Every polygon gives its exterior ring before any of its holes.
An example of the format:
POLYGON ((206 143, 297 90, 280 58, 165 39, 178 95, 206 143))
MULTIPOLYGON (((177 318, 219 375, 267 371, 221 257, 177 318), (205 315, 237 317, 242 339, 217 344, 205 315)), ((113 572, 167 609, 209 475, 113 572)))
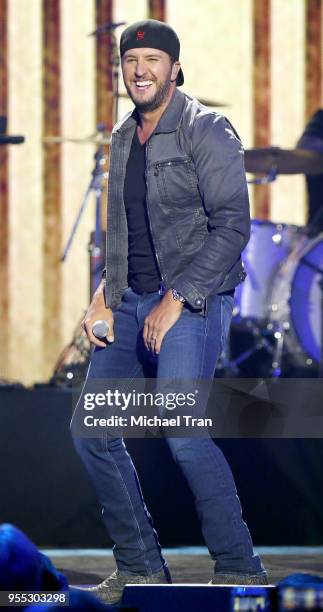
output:
MULTIPOLYGON (((108 185, 106 306, 127 287, 123 187, 136 129, 134 112, 112 132, 108 185)), ((146 143, 147 212, 164 286, 197 310, 246 274, 241 251, 250 214, 243 148, 229 121, 178 89, 146 143)))

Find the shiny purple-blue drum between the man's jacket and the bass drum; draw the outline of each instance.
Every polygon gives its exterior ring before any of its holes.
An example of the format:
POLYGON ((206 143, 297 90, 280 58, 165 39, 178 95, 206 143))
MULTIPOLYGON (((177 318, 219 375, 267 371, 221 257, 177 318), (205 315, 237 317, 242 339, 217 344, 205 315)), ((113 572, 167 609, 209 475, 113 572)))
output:
POLYGON ((236 287, 234 323, 254 321, 261 326, 266 324, 274 276, 301 232, 296 225, 252 220, 250 240, 242 253, 247 278, 236 287))

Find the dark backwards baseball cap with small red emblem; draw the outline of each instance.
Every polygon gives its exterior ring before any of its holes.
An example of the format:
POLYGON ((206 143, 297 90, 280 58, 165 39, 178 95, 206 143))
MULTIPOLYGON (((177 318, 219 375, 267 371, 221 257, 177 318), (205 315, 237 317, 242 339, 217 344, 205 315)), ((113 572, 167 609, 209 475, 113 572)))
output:
MULTIPOLYGON (((179 60, 179 38, 173 28, 163 21, 157 21, 157 19, 136 21, 122 32, 120 39, 121 57, 129 49, 143 47, 165 51, 175 60, 179 60)), ((183 85, 183 83, 184 74, 180 68, 176 84, 183 85)))

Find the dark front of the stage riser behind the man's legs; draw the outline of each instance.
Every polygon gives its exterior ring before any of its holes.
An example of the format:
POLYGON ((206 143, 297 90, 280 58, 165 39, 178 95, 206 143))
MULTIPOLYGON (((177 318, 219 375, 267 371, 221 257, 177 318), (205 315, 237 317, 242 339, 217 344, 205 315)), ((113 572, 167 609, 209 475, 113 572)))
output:
MULTIPOLYGON (((69 433, 70 390, 0 391, 0 522, 37 545, 106 547, 101 510, 69 433)), ((162 545, 204 544, 192 495, 161 439, 128 439, 162 545)), ((221 439, 254 544, 323 544, 323 442, 221 439)))

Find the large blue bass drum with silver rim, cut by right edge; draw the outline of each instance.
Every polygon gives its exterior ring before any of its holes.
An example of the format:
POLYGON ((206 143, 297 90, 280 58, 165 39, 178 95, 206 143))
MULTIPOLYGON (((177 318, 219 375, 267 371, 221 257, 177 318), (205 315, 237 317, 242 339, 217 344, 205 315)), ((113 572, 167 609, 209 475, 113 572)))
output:
POLYGON ((319 363, 321 353, 321 296, 323 233, 303 237, 274 281, 270 320, 288 329, 286 346, 298 363, 319 363))

